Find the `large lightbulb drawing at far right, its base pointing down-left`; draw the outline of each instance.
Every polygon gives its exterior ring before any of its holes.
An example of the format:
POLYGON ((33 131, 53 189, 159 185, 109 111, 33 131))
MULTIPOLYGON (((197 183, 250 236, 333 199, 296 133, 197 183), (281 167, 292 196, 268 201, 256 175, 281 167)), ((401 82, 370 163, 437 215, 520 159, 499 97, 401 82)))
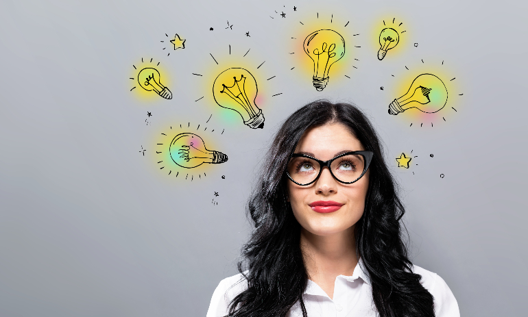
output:
POLYGON ((389 114, 399 114, 409 108, 432 114, 442 110, 447 103, 447 88, 442 79, 432 74, 416 77, 402 97, 389 105, 389 114))

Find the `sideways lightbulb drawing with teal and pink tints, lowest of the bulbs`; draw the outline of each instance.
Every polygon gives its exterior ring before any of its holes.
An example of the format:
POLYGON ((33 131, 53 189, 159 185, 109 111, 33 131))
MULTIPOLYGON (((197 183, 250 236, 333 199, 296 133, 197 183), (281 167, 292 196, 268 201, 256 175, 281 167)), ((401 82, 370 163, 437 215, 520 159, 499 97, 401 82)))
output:
POLYGON ((206 149, 204 140, 190 133, 175 136, 171 141, 169 153, 173 162, 184 168, 195 168, 204 163, 220 164, 228 160, 224 153, 206 149))

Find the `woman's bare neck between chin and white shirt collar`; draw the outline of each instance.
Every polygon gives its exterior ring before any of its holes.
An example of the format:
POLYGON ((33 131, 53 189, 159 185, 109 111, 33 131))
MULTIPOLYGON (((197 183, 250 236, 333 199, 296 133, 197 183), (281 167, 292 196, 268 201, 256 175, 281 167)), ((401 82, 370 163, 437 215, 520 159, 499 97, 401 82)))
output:
POLYGON ((358 262, 354 232, 352 226, 331 236, 317 236, 302 228, 300 246, 312 281, 352 275, 358 262))

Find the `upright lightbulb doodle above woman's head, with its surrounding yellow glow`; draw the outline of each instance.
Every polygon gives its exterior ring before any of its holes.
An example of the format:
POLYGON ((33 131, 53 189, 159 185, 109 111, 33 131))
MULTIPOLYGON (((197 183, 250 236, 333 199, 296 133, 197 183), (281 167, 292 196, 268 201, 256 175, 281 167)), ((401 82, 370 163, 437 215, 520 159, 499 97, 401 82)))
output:
MULTIPOLYGON (((322 91, 328 86, 331 77, 334 78, 335 73, 350 78, 344 74, 343 69, 348 67, 352 59, 345 57, 355 54, 356 49, 361 46, 357 45, 355 38, 355 36, 359 36, 359 33, 352 34, 351 31, 347 30, 350 21, 346 21, 346 23, 343 21, 342 24, 339 21, 333 23, 334 20, 337 20, 333 14, 326 18, 324 18, 324 14, 319 14, 319 12, 315 12, 314 15, 315 18, 311 18, 309 21, 305 19, 304 23, 299 21, 302 27, 295 33, 302 35, 300 35, 301 37, 298 35, 291 37, 294 44, 289 55, 302 65, 302 71, 311 73, 311 81, 315 90, 322 91), (301 48, 302 53, 300 52, 301 48), (295 55, 296 53, 301 55, 295 55), (309 62, 304 62, 303 56, 308 56, 309 60, 307 61, 309 62)), ((353 58, 353 61, 359 62, 357 58, 353 58)), ((357 68, 355 65, 352 67, 357 68)), ((293 66, 290 70, 293 71, 294 68, 296 67, 293 66)))

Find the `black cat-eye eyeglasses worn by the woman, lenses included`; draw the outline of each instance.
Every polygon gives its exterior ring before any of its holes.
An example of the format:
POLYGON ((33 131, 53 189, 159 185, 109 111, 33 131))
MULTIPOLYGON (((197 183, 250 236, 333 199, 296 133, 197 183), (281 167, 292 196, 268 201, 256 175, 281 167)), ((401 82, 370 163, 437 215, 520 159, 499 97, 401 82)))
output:
POLYGON ((352 151, 322 161, 309 155, 293 153, 286 174, 293 183, 308 186, 320 177, 326 166, 339 183, 355 183, 367 172, 372 156, 372 151, 352 151))

